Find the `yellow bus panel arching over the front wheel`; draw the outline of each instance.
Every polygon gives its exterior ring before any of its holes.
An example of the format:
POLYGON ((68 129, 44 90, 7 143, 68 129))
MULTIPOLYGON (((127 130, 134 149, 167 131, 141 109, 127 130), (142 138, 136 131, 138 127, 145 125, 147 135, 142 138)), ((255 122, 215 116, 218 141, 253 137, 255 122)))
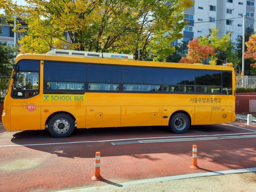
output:
POLYGON ((85 106, 42 106, 41 107, 41 129, 45 129, 47 118, 55 112, 67 112, 76 119, 77 128, 85 128, 85 106), (49 110, 44 112, 44 110, 49 110))

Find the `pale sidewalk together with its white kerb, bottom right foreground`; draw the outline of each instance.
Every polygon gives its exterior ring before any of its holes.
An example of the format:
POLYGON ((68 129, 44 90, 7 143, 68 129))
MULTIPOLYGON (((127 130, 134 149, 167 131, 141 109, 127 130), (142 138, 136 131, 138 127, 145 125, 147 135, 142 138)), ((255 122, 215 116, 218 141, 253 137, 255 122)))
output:
POLYGON ((59 192, 255 192, 256 172, 249 172, 255 170, 256 168, 235 169, 222 172, 206 172, 160 177, 125 183, 112 183, 108 180, 101 180, 97 182, 103 181, 108 183, 108 185, 87 187, 84 189, 71 189, 59 192), (244 171, 248 172, 241 173, 244 171), (232 172, 236 172, 236 174, 229 174, 232 172))

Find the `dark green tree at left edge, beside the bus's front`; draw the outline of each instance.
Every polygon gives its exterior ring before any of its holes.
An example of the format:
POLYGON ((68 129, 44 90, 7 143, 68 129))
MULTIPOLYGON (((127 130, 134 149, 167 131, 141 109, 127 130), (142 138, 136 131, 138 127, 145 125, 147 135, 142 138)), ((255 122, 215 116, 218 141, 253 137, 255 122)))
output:
MULTIPOLYGON (((1 30, 1 20, 0 20, 0 34, 3 33, 1 30)), ((17 51, 17 47, 12 47, 7 45, 7 41, 0 42, 0 75, 10 76, 12 72, 12 58, 15 58, 13 52, 17 51)))

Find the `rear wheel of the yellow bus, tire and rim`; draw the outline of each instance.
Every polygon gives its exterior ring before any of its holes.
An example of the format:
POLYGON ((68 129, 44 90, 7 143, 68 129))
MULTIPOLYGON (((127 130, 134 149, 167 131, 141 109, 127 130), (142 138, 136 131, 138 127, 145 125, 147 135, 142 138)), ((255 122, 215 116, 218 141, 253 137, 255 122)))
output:
POLYGON ((169 128, 176 134, 184 134, 188 131, 190 120, 184 113, 176 113, 171 117, 169 128))

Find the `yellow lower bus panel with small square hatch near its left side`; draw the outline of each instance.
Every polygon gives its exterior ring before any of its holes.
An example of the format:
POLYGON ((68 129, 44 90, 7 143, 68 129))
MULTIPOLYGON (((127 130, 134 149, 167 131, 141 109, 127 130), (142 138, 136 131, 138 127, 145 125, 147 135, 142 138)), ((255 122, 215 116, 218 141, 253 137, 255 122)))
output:
POLYGON ((120 106, 87 106, 86 128, 120 127, 120 106))

